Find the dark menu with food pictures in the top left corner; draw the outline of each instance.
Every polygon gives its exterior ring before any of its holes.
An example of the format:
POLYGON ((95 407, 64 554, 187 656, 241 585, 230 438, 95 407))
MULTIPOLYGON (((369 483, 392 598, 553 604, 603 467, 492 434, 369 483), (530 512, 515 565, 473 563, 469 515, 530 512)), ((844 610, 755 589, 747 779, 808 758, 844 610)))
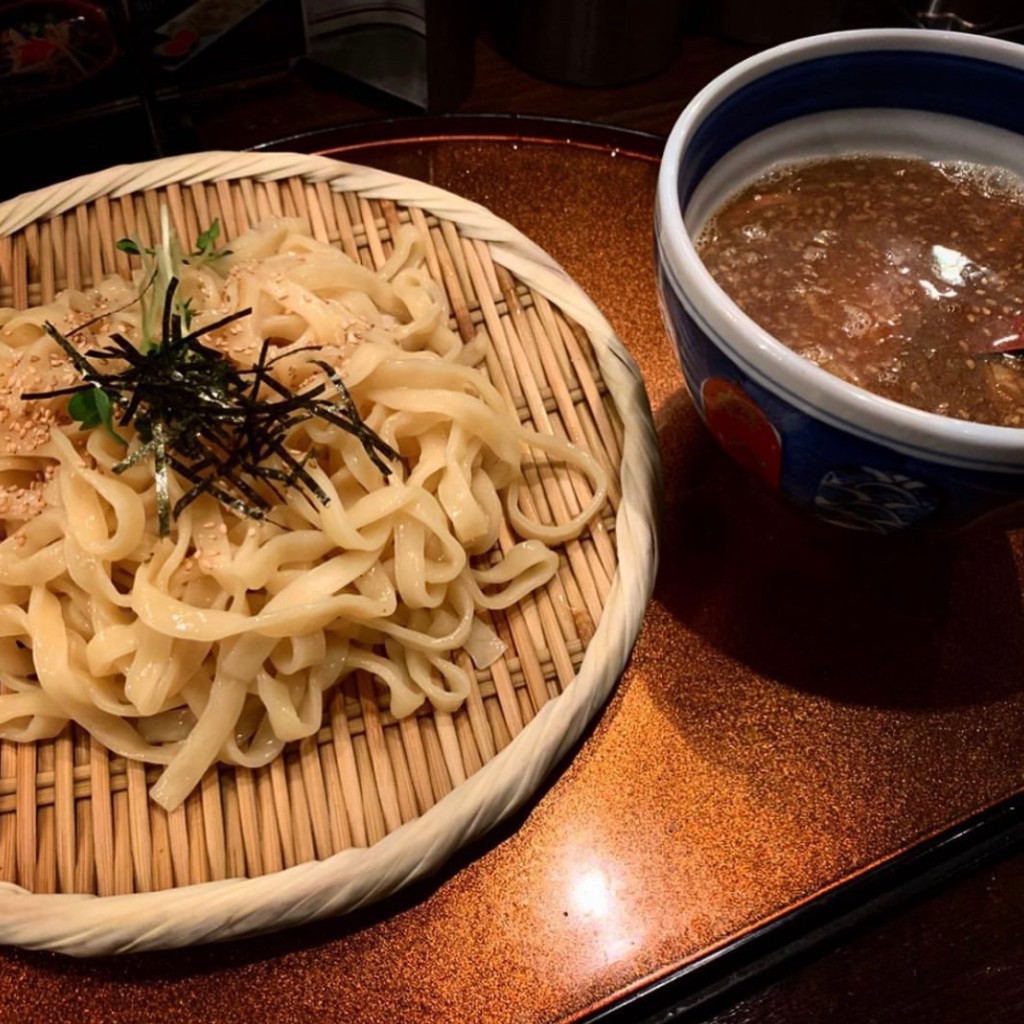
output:
POLYGON ((195 148, 211 97, 304 48, 300 0, 0 0, 0 199, 195 148))

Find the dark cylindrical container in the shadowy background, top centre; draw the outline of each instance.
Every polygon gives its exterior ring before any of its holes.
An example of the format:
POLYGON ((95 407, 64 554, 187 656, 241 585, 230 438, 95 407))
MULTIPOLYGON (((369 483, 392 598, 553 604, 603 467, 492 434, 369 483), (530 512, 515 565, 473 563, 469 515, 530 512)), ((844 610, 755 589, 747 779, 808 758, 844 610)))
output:
POLYGON ((495 47, 530 75, 614 86, 656 75, 679 55, 685 0, 493 0, 495 47))

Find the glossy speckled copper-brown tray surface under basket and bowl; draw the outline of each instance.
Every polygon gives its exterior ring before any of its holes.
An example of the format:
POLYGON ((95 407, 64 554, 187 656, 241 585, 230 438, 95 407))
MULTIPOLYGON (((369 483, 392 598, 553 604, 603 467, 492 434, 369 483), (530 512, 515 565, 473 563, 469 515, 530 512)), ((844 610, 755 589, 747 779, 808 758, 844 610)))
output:
POLYGON ((716 951, 1024 790, 1021 538, 819 527, 727 463, 660 326, 655 143, 514 122, 418 135, 310 147, 511 220, 644 372, 666 504, 632 664, 527 813, 431 884, 221 947, 3 951, 0 1019, 578 1020, 684 965, 696 984, 716 951))

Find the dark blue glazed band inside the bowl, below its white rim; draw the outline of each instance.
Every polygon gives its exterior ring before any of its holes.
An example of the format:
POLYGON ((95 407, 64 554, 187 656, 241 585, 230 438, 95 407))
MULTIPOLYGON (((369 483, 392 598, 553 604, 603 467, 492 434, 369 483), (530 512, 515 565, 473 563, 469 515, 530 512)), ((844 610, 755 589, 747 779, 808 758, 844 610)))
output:
POLYGON ((759 131, 865 106, 948 114, 1024 134, 1024 75, 991 60, 921 50, 865 50, 781 68, 737 89, 693 133, 679 175, 682 208, 715 163, 759 131))

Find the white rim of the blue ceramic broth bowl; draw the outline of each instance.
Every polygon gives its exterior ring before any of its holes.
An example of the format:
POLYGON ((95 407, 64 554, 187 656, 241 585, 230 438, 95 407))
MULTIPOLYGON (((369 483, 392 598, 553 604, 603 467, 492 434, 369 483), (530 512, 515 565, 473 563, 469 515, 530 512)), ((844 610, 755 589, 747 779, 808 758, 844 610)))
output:
POLYGON ((840 429, 886 443, 929 461, 981 469, 1024 471, 1024 428, 956 420, 903 406, 848 384, 787 348, 758 326, 720 288, 697 256, 683 224, 678 180, 683 151, 705 117, 727 96, 779 68, 813 57, 886 49, 938 51, 988 60, 1024 75, 1024 47, 1006 40, 932 29, 856 29, 829 32, 782 43, 741 60, 700 90, 683 110, 666 142, 658 172, 656 224, 658 250, 673 284, 692 304, 694 294, 713 334, 730 338, 761 382, 786 401, 814 394, 811 415, 840 429), (737 344, 738 342, 738 344, 737 344), (774 382, 781 377, 784 385, 774 382), (779 390, 780 388, 780 390, 779 390), (822 415, 823 414, 823 415, 822 415))

